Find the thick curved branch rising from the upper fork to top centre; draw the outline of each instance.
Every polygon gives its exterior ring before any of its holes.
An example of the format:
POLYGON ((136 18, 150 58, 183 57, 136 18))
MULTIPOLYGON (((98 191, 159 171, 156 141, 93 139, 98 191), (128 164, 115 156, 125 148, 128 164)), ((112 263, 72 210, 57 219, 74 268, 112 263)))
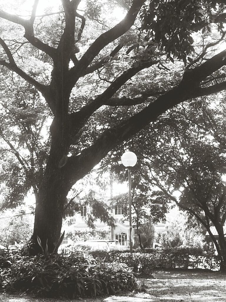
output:
POLYGON ((86 68, 93 61, 93 59, 99 54, 99 52, 109 43, 111 43, 118 37, 121 37, 124 33, 126 33, 130 29, 144 2, 145 2, 144 0, 133 0, 133 3, 128 13, 126 14, 125 18, 117 25, 115 25, 115 27, 111 28, 109 31, 100 35, 93 42, 93 44, 89 47, 89 49, 84 53, 79 63, 70 70, 71 88, 74 87, 75 83, 82 75, 83 70, 86 70, 86 68))

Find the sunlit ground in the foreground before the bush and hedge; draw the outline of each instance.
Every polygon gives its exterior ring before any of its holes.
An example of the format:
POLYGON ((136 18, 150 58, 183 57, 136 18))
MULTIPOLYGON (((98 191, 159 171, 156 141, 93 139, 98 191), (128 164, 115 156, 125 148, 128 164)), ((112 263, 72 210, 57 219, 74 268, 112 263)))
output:
MULTIPOLYGON (((226 274, 203 271, 156 271, 155 279, 139 279, 145 293, 123 293, 110 297, 80 298, 74 302, 225 302, 226 274)), ((63 302, 64 299, 33 298, 0 293, 1 302, 63 302)))

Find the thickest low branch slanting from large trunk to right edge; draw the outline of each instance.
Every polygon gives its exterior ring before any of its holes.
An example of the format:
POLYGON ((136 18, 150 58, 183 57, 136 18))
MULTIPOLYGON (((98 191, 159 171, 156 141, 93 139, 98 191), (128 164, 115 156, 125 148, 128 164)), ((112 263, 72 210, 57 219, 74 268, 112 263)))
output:
POLYGON ((150 122, 155 121, 169 108, 197 97, 200 82, 210 76, 212 72, 224 66, 225 62, 225 51, 222 51, 201 66, 187 72, 179 85, 161 95, 146 108, 122 121, 117 127, 105 130, 92 146, 82 150, 78 156, 69 157, 67 164, 64 166, 65 177, 68 177, 70 182, 76 182, 77 178, 74 177, 75 168, 78 171, 77 175, 80 175, 79 177, 86 175, 111 149, 132 137, 150 122))

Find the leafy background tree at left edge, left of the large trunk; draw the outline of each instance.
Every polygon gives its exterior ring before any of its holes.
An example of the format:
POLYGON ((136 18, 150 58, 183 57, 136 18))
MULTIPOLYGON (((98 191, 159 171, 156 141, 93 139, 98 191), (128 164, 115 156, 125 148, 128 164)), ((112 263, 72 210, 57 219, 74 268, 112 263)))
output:
POLYGON ((0 149, 1 209, 4 210, 23 203, 31 188, 36 198, 39 194, 50 146, 46 127, 49 110, 37 90, 23 83, 20 90, 8 89, 0 108, 0 139, 4 146, 0 149))

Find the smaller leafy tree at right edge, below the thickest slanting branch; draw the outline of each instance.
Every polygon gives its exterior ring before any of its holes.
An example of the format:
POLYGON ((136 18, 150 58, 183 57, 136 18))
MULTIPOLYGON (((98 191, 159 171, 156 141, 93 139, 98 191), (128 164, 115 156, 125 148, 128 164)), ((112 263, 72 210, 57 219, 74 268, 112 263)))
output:
POLYGON ((214 99, 206 98, 168 112, 159 123, 160 136, 152 150, 143 150, 143 154, 149 171, 146 180, 186 210, 191 221, 195 217, 205 226, 225 269, 225 99, 217 103, 218 107, 214 99), (178 198, 177 190, 181 193, 178 198), (218 241, 211 226, 216 228, 218 241))

